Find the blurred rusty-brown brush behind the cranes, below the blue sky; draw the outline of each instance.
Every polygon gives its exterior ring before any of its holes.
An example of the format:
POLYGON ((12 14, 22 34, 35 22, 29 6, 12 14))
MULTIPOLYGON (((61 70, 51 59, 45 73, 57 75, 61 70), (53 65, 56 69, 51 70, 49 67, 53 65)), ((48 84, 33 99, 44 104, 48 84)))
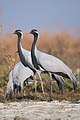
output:
MULTIPOLYGON (((32 39, 32 36, 24 34, 24 39, 21 42, 25 49, 31 49, 32 39)), ((37 46, 39 50, 60 58, 75 73, 76 69, 80 68, 80 37, 74 37, 68 32, 56 34, 42 32, 37 46)), ((9 71, 19 61, 16 52, 17 36, 13 34, 0 35, 0 84, 2 79, 3 81, 8 80, 9 71)))

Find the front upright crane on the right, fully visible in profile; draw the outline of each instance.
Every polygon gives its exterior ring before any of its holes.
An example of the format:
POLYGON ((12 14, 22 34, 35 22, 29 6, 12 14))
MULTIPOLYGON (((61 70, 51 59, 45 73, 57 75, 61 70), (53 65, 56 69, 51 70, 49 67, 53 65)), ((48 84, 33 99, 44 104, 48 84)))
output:
POLYGON ((32 48, 31 48, 32 63, 37 70, 40 70, 42 68, 49 73, 50 86, 51 86, 50 95, 52 96, 52 74, 57 74, 71 79, 73 81, 73 86, 75 90, 77 87, 77 79, 72 73, 72 70, 60 59, 50 54, 41 52, 37 49, 36 42, 38 40, 39 33, 36 29, 31 30, 30 34, 34 36, 32 48))

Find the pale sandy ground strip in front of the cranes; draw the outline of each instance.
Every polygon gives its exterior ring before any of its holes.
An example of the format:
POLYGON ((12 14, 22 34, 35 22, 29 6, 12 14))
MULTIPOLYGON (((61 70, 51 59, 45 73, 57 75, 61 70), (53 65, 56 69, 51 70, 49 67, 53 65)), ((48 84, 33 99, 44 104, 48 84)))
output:
POLYGON ((0 103, 0 120, 14 120, 14 118, 15 120, 80 120, 80 101, 0 103))

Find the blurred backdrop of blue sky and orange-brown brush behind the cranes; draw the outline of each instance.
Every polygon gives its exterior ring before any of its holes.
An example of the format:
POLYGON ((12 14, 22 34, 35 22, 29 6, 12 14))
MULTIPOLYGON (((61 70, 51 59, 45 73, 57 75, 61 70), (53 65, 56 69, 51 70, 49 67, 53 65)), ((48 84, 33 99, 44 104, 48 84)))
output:
POLYGON ((19 61, 12 33, 21 29, 22 45, 30 50, 33 38, 25 32, 33 28, 40 33, 38 49, 60 58, 79 79, 80 0, 0 0, 0 87, 19 61))

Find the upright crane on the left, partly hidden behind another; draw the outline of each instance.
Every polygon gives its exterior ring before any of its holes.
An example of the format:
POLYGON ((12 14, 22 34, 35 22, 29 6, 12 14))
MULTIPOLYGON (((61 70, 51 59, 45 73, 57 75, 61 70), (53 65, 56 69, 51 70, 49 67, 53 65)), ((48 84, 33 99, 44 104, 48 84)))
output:
MULTIPOLYGON (((18 53, 19 53, 19 57, 20 57, 20 60, 22 62, 22 64, 25 66, 25 67, 29 67, 33 72, 34 74, 35 73, 38 73, 39 77, 40 77, 40 73, 41 71, 44 72, 45 70, 41 69, 41 70, 37 70, 35 69, 35 67, 33 66, 32 64, 32 60, 31 60, 31 52, 28 51, 28 50, 25 50, 24 48, 22 48, 22 45, 21 45, 21 37, 23 38, 23 33, 21 30, 16 30, 14 32, 14 34, 17 34, 18 36, 18 53)), ((58 84, 58 87, 59 89, 62 91, 63 89, 63 78, 58 76, 58 75, 53 75, 55 80, 57 81, 57 84, 58 84)), ((42 84, 42 79, 40 77, 40 80, 41 80, 41 86, 42 86, 42 91, 43 91, 43 94, 44 94, 44 90, 43 90, 43 84, 42 84)), ((35 90, 36 91, 36 90, 35 90)))

